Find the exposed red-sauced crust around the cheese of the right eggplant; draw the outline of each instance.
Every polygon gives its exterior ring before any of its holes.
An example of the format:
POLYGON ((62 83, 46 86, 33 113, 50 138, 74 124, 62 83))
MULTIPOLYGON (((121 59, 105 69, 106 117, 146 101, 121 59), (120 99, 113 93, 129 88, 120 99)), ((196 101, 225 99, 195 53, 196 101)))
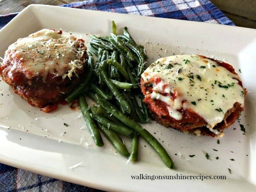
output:
MULTIPOLYGON (((230 71, 233 74, 236 74, 233 67, 225 62, 221 62, 218 60, 214 60, 211 58, 207 58, 205 56, 201 56, 206 59, 210 59, 212 61, 217 62, 218 64, 221 64, 222 67, 226 68, 228 71, 230 71)), ((143 78, 141 78, 140 87, 142 93, 146 96, 149 93, 152 93, 152 86, 149 86, 149 82, 145 83, 143 78)), ((154 82, 152 82, 154 83, 154 82)), ((239 85, 243 88, 242 82, 239 80, 239 85)), ((246 89, 243 88, 244 95, 246 94, 246 89)), ((172 95, 170 95, 172 97, 172 95)), ((209 130, 207 128, 207 122, 200 117, 198 114, 193 112, 192 110, 186 110, 186 109, 179 109, 178 111, 182 114, 183 118, 181 120, 176 120, 169 116, 169 112, 167 109, 167 104, 163 101, 160 101, 158 99, 152 99, 151 97, 145 97, 143 100, 144 103, 147 104, 147 108, 149 109, 149 112, 154 120, 156 120, 158 123, 164 125, 166 128, 173 128, 176 130, 179 130, 184 133, 193 134, 197 136, 207 135, 215 137, 215 133, 209 130)), ((240 116, 240 113, 244 110, 243 107, 241 107, 240 103, 234 103, 233 107, 229 109, 222 122, 215 125, 213 129, 218 130, 218 132, 223 133, 223 130, 228 128, 231 124, 233 124, 240 116)), ((218 134, 219 136, 221 134, 218 134)))

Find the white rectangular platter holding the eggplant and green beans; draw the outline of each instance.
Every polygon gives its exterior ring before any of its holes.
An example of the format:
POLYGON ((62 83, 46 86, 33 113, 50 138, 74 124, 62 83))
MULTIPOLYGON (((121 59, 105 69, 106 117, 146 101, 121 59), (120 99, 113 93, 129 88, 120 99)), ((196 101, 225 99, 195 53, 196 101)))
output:
MULTIPOLYGON (((1 81, 0 162, 106 191, 256 191, 256 30, 30 5, 0 31, 0 56, 18 38, 44 28, 81 35, 88 42, 90 34, 109 35, 112 20, 118 33, 128 27, 134 39, 144 45, 148 64, 174 54, 200 54, 224 60, 236 72, 240 69, 238 73, 248 93, 239 122, 225 130, 224 137, 212 138, 187 135, 150 121, 143 126, 159 139, 176 168, 168 169, 142 139, 139 161, 130 163, 105 138, 101 148, 93 143, 79 109, 73 111, 67 105, 59 105, 58 110, 43 113, 1 81), (244 125, 246 133, 239 124, 244 125), (210 159, 205 157, 206 152, 210 159), (226 179, 131 178, 140 174, 158 178, 225 176, 226 179)), ((129 141, 125 143, 130 145, 129 141)))

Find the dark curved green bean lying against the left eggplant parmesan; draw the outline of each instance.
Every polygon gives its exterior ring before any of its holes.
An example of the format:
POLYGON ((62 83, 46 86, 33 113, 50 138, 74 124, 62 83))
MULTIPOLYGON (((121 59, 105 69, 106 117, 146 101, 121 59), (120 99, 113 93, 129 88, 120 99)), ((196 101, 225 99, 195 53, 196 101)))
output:
POLYGON ((75 100, 85 90, 85 88, 91 81, 91 78, 94 73, 94 59, 93 59, 93 55, 90 52, 88 52, 88 56, 89 58, 88 58, 87 65, 90 67, 88 75, 86 75, 86 78, 83 80, 82 84, 68 95, 68 97, 66 98, 66 101, 69 103, 75 100))

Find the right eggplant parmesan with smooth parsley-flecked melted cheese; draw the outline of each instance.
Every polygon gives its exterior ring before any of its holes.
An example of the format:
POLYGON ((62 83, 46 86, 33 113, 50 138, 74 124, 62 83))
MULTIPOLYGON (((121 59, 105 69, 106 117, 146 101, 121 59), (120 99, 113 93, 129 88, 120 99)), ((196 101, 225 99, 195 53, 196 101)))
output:
POLYGON ((244 109, 246 89, 233 67, 200 55, 158 59, 140 84, 152 117, 184 133, 222 136, 244 109))

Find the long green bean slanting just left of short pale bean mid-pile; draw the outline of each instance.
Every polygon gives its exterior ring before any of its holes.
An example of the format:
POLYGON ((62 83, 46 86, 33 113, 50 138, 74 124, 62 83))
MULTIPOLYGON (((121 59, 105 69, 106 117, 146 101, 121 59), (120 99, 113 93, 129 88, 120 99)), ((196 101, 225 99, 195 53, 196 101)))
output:
POLYGON ((106 61, 102 62, 102 65, 100 65, 100 75, 102 77, 102 80, 106 83, 106 85, 109 87, 111 92, 115 95, 116 99, 122 104, 122 106, 125 108, 126 112, 130 114, 131 108, 129 104, 127 103, 124 96, 118 91, 118 89, 115 87, 115 85, 111 82, 110 78, 106 74, 106 68, 108 67, 108 63, 106 61))

